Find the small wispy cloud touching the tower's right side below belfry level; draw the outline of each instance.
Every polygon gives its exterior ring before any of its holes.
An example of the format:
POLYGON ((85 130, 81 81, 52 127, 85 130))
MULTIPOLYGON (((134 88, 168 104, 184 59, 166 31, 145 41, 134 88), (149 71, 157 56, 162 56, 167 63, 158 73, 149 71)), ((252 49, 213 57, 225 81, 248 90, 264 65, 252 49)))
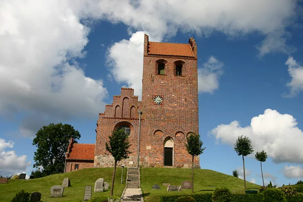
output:
POLYGON ((198 92, 213 93, 218 89, 223 67, 224 64, 214 56, 209 57, 203 68, 198 68, 198 92))

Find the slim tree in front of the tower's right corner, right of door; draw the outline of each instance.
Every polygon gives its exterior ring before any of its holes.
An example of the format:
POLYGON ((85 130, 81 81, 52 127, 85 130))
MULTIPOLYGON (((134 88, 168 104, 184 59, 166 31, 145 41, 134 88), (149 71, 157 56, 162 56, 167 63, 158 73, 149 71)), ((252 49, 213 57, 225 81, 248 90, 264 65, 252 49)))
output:
POLYGON ((186 150, 188 151, 188 154, 191 155, 191 191, 193 193, 193 158, 194 156, 198 156, 203 153, 204 149, 202 148, 203 141, 200 140, 200 135, 191 133, 187 136, 187 143, 185 143, 186 150))

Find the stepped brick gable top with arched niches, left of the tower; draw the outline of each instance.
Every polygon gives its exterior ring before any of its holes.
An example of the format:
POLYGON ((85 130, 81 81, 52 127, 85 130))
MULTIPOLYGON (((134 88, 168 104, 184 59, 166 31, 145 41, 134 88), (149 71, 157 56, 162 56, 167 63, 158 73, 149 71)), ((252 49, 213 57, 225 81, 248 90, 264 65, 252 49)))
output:
POLYGON ((105 112, 99 113, 100 118, 114 119, 138 119, 138 96, 134 95, 134 89, 121 88, 120 95, 113 96, 113 103, 105 106, 105 112))

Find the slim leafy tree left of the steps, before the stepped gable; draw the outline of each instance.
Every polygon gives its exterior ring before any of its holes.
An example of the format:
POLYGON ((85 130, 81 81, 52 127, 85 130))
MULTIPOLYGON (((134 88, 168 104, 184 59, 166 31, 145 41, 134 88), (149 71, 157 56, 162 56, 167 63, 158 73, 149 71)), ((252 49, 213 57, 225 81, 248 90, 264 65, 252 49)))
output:
POLYGON ((122 159, 128 158, 128 155, 131 153, 128 149, 130 147, 128 141, 128 135, 125 133, 124 130, 116 130, 112 132, 112 135, 109 136, 110 141, 109 144, 106 142, 106 150, 111 153, 111 155, 115 159, 115 168, 113 173, 113 180, 112 180, 112 188, 111 188, 111 195, 114 192, 114 181, 115 181, 115 174, 116 174, 116 167, 117 162, 121 161, 122 159))

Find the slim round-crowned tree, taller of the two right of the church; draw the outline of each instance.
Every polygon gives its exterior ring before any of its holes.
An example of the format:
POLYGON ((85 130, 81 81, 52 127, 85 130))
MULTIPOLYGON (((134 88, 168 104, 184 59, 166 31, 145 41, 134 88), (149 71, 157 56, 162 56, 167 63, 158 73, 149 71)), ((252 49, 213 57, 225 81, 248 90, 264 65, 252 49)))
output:
POLYGON ((243 137, 243 135, 238 136, 234 146, 235 146, 234 149, 235 149, 236 153, 238 154, 238 156, 240 156, 240 155, 242 156, 244 189, 246 190, 244 157, 246 157, 247 155, 252 154, 254 152, 254 149, 252 149, 251 140, 246 136, 243 137))

